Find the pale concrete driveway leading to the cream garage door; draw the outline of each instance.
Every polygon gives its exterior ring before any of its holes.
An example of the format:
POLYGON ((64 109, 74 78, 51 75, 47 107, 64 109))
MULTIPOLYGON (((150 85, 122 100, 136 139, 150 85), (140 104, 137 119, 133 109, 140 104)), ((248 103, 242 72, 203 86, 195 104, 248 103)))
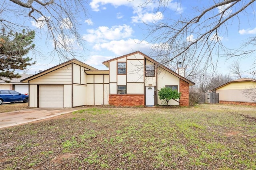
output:
MULTIPOLYGON (((84 108, 84 107, 83 107, 84 108)), ((82 109, 76 108, 34 108, 0 113, 0 128, 20 125, 31 121, 47 119, 82 109)))

